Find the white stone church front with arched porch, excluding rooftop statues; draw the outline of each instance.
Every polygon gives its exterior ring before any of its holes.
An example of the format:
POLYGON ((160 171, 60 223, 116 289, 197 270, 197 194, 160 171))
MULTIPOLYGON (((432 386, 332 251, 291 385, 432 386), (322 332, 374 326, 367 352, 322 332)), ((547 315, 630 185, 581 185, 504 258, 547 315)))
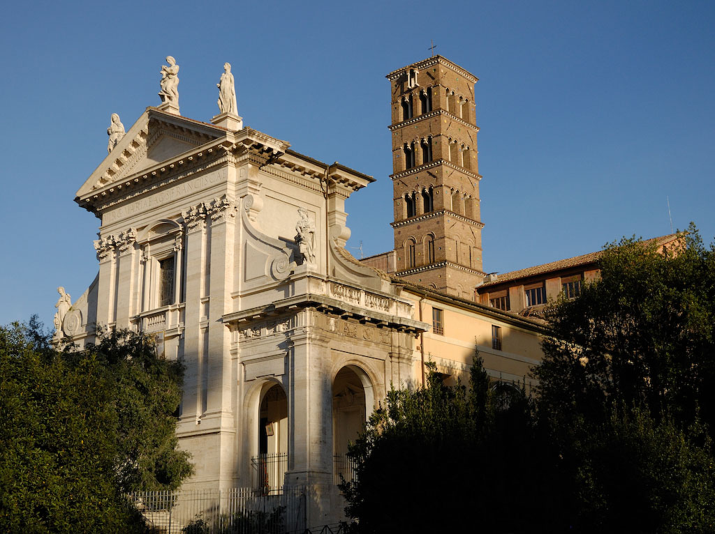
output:
POLYGON ((342 513, 333 456, 414 376, 428 325, 345 252, 345 199, 373 178, 288 147, 148 108, 77 192, 101 220, 99 275, 62 328, 80 346, 97 324, 154 335, 187 367, 187 485, 249 486, 252 458, 283 453, 317 525, 342 513))

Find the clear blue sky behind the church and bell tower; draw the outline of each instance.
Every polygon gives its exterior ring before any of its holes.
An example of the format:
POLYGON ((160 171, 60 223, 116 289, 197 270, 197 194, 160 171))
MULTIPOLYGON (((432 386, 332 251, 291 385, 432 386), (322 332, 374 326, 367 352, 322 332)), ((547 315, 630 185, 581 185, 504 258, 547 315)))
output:
MULTIPOLYGON (((393 246, 385 74, 435 51, 476 86, 485 271, 652 237, 715 236, 712 1, 11 2, 0 21, 0 323, 51 326, 97 273, 99 220, 74 193, 106 156, 110 114, 217 114, 233 65, 244 124, 377 178, 347 202, 349 246, 393 246)), ((354 251, 356 254, 357 251, 354 251)))

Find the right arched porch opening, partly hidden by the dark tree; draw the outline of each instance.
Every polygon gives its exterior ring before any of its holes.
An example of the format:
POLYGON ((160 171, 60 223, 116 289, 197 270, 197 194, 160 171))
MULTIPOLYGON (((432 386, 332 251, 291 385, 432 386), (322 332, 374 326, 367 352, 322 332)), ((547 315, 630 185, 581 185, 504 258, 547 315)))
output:
POLYGON ((373 410, 373 386, 365 371, 345 366, 332 385, 332 448, 335 483, 352 480, 352 465, 347 459, 347 445, 358 438, 373 410), (368 406, 370 410, 368 411, 368 406))

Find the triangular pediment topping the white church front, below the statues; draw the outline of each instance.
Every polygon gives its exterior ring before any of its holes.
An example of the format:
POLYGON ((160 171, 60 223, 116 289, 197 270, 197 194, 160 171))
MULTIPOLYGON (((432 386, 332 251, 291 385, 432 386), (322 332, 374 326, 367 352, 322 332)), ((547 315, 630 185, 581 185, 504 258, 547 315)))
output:
POLYGON ((147 108, 79 188, 77 196, 134 176, 224 133, 211 124, 147 108))

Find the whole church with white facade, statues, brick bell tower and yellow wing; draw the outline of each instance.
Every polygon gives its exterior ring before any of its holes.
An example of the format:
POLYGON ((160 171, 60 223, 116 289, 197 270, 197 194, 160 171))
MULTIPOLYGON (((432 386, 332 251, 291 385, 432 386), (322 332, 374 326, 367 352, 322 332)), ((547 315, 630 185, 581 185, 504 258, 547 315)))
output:
POLYGON ((162 104, 126 132, 112 117, 77 191, 100 220, 99 273, 58 308, 58 335, 82 348, 130 328, 184 363, 185 487, 307 486, 308 525, 332 523, 347 443, 391 384, 423 383, 428 361, 454 380, 475 350, 495 380, 528 382, 541 360, 542 323, 474 301, 476 79, 440 56, 388 75, 395 249, 361 262, 345 200, 374 179, 244 127, 229 64, 220 114, 181 116, 167 63, 162 104))

